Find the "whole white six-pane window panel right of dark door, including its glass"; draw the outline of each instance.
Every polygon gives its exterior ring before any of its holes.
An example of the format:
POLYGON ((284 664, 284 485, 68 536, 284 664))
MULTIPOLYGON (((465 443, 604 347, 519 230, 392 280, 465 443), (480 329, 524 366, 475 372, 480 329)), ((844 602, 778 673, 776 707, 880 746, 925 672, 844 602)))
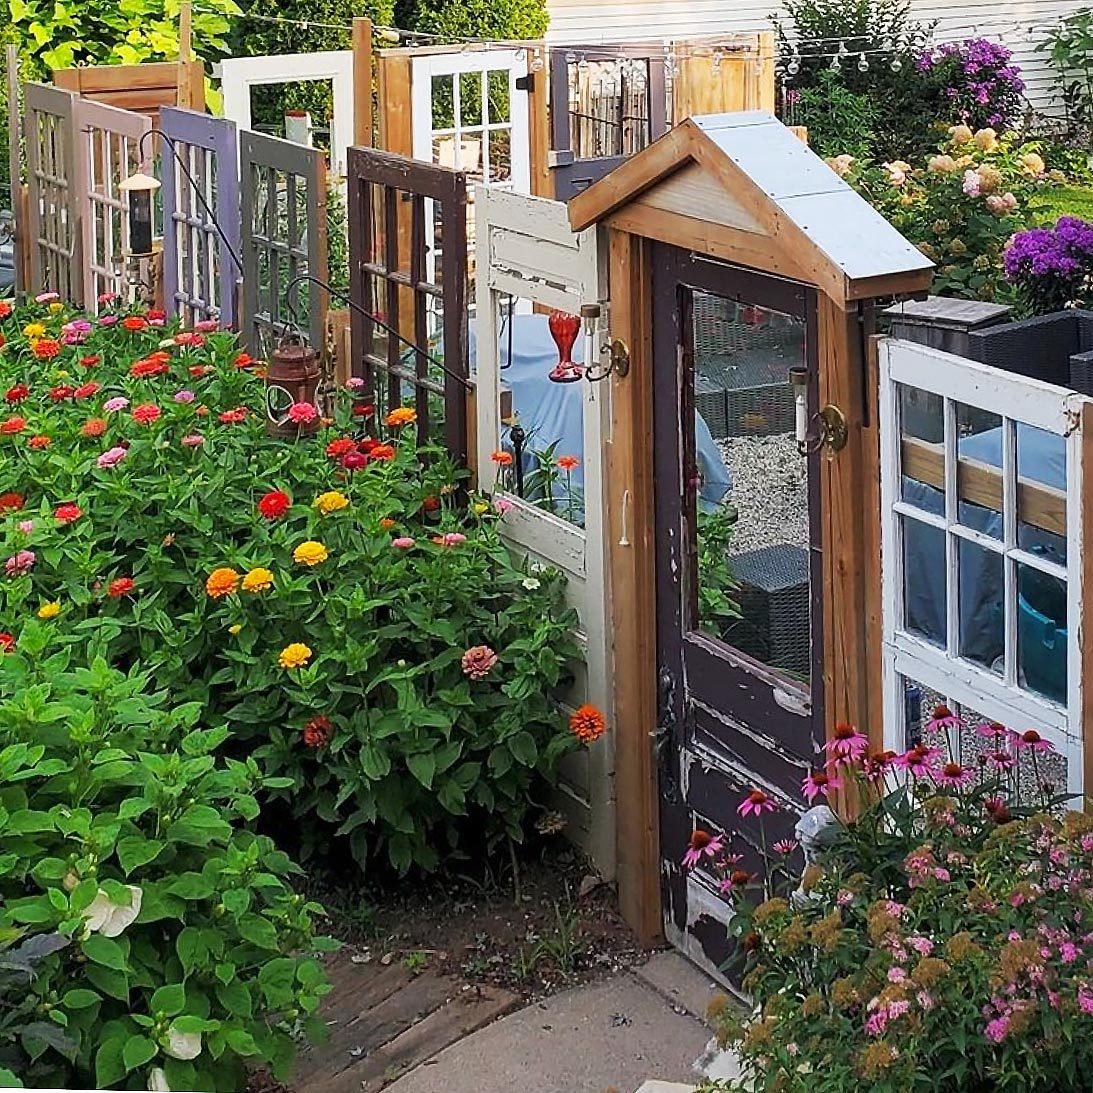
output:
POLYGON ((943 702, 1038 730, 1038 777, 1080 794, 1089 400, 893 339, 879 362, 885 745, 943 702))

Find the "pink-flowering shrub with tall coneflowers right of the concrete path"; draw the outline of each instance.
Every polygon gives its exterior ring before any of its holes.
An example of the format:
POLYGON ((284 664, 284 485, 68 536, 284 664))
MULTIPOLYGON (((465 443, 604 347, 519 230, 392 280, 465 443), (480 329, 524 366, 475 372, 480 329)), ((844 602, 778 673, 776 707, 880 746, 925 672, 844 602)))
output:
MULTIPOLYGON (((826 849, 803 870, 794 843, 753 877, 733 854, 747 847, 692 839, 687 859, 725 877, 755 1003, 719 1019, 740 1089, 1089 1088, 1093 818, 1050 814, 1063 798, 1045 781, 1038 733, 978 726, 985 762, 962 764, 941 741, 966 743, 969 727, 942 707, 927 730, 938 744, 903 755, 870 755, 848 727, 828 743, 804 791, 846 790, 860 809, 848 822, 824 810, 826 849)), ((741 811, 771 807, 756 790, 741 811)))

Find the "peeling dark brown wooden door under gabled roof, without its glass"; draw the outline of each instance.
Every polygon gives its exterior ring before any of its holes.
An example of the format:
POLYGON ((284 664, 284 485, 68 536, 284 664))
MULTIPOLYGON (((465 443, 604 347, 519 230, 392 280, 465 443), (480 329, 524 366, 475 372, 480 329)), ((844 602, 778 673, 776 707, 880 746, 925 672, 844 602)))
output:
MULTIPOLYGON (((655 573, 658 682, 658 769, 663 880, 663 913, 668 932, 684 937, 692 951, 712 964, 728 954, 728 914, 694 921, 689 915, 689 882, 678 868, 691 834, 692 812, 722 822, 734 815, 737 800, 725 800, 731 788, 747 783, 778 787, 799 801, 802 772, 823 739, 823 618, 820 553, 820 463, 810 458, 810 610, 811 686, 809 713, 787 708, 786 680, 739 650, 698 632, 692 591, 696 513, 687 480, 696 471, 694 451, 694 361, 691 302, 695 291, 759 305, 804 324, 809 402, 819 398, 818 307, 813 287, 741 267, 728 266, 674 247, 654 245, 653 278, 653 434, 655 467, 655 573), (696 705, 698 703, 700 705, 696 705), (705 707, 705 708, 703 708, 705 707), (696 729, 695 713, 703 722, 696 729), (739 727, 739 728, 737 728, 739 727), (802 729, 804 729, 802 736, 802 729), (750 731, 748 731, 750 730, 750 731), (712 762, 696 777, 683 777, 698 736, 725 742, 726 766, 712 762), (729 760, 731 755, 731 760, 729 760), (729 775, 730 767, 739 767, 729 775), (725 777, 718 775, 724 773, 725 777), (689 789, 683 790, 686 780, 689 789), (730 788, 731 787, 731 788, 730 788), (728 790, 728 791, 727 791, 728 790), (715 804, 716 799, 716 804, 715 804), (706 808, 703 808, 706 804, 706 808), (687 938, 686 935, 691 937, 687 938)), ((802 706, 804 694, 801 694, 802 706)), ((707 748, 707 755, 710 754, 707 748)), ((800 802, 802 803, 802 802, 800 802)), ((789 816, 783 818, 783 825, 789 816)), ((747 834, 742 833, 747 842, 747 834)))

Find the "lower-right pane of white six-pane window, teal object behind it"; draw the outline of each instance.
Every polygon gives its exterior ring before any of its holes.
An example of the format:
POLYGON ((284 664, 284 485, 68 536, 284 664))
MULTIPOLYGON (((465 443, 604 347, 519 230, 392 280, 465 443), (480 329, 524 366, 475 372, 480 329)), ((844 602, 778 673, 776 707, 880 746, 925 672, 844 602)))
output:
POLYGON ((1053 702, 1067 701, 1067 586, 1029 565, 1018 566, 1018 675, 1053 702))

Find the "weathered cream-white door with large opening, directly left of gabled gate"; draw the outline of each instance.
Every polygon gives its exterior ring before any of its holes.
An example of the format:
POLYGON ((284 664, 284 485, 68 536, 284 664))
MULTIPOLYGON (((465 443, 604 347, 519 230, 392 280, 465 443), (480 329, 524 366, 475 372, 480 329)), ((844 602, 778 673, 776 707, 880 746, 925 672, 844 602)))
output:
MULTIPOLYGON (((479 487, 507 507, 503 527, 514 550, 565 571, 585 655, 584 678, 571 702, 591 703, 610 714, 602 467, 610 385, 546 378, 557 354, 542 314, 553 309, 576 316, 581 305, 599 303, 595 230, 575 235, 565 205, 542 198, 480 187, 475 204, 479 487), (532 305, 539 305, 540 314, 530 313, 532 305), (521 449, 525 458, 526 474, 519 477, 515 466, 505 466, 514 458, 514 426, 527 436, 526 446, 515 450, 516 459, 521 449), (495 459, 498 453, 507 459, 495 459)), ((574 360, 596 360, 597 349, 588 341, 581 336, 574 360)), ((611 877, 611 734, 573 760, 561 787, 571 834, 611 877)))

